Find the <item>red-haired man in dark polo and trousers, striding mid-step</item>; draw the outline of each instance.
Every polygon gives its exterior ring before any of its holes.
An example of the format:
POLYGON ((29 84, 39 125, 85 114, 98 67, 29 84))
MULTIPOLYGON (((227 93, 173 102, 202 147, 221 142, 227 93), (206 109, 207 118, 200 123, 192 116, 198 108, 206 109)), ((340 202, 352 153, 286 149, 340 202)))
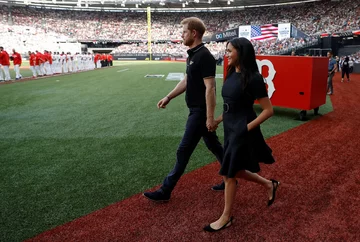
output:
POLYGON ((202 43, 205 25, 200 19, 194 17, 184 19, 181 24, 184 45, 189 47, 186 75, 168 95, 158 102, 157 107, 166 108, 171 99, 186 92, 185 99, 190 114, 177 150, 175 167, 165 178, 160 189, 144 193, 146 198, 153 201, 164 202, 170 199, 171 192, 184 173, 201 137, 220 163, 223 159, 223 147, 216 133, 212 132, 216 129, 214 121, 216 61, 202 43))

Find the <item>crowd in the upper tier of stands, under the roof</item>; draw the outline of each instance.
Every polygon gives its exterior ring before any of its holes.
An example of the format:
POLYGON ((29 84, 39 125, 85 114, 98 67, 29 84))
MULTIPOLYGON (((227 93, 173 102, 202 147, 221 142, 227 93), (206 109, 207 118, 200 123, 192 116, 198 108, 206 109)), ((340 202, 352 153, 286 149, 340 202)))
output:
MULTIPOLYGON (((292 23, 308 35, 344 32, 359 29, 360 0, 321 1, 293 6, 248 8, 227 12, 152 13, 154 40, 180 39, 179 22, 189 16, 201 18, 207 33, 239 25, 292 23)), ((55 32, 71 38, 146 40, 147 23, 144 12, 87 12, 24 7, 1 7, 1 24, 31 25, 38 32, 55 32), (81 27, 79 27, 81 26, 81 27)))

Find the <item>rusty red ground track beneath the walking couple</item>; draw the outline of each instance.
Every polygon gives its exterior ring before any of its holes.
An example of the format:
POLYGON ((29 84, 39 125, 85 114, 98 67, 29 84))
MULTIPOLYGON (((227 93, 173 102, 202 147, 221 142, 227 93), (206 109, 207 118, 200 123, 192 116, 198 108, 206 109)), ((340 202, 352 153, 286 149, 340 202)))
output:
POLYGON ((169 203, 138 194, 30 241, 360 241, 360 75, 335 80, 334 112, 268 140, 277 162, 261 174, 281 181, 272 207, 240 181, 234 224, 203 232, 223 209, 212 163, 183 176, 169 203))

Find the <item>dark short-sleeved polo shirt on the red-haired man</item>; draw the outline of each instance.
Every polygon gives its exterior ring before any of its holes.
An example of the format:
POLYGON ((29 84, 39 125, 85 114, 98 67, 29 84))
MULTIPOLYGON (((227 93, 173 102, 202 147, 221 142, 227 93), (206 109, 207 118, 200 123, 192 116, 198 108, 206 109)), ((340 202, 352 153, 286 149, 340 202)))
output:
POLYGON ((189 108, 205 108, 206 87, 204 78, 215 77, 216 61, 210 51, 200 44, 187 51, 186 60, 186 104, 189 108))

